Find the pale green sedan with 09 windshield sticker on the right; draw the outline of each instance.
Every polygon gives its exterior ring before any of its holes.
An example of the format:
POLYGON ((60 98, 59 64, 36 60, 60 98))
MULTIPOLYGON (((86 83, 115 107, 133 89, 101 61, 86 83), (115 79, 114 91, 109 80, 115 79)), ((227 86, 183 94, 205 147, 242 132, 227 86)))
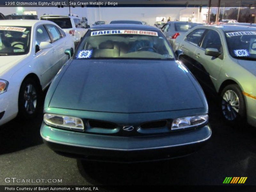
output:
POLYGON ((220 95, 221 113, 233 124, 256 126, 256 28, 197 26, 177 39, 182 62, 208 90, 220 95))

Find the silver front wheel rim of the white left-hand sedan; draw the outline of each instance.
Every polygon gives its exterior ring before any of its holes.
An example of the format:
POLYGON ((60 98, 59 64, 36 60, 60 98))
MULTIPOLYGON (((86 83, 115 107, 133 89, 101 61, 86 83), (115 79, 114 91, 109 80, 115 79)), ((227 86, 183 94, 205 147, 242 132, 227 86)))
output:
POLYGON ((28 114, 33 114, 36 110, 37 95, 36 88, 32 84, 27 84, 24 92, 24 107, 28 114))

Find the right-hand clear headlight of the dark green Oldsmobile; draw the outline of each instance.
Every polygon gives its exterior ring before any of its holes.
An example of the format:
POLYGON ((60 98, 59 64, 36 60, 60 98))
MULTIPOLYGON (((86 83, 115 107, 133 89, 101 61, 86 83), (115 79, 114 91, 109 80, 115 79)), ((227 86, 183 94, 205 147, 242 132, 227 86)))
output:
POLYGON ((189 127, 199 126, 205 124, 208 121, 208 115, 197 115, 197 116, 188 116, 188 117, 180 117, 174 119, 172 122, 172 130, 177 129, 186 129, 189 127))

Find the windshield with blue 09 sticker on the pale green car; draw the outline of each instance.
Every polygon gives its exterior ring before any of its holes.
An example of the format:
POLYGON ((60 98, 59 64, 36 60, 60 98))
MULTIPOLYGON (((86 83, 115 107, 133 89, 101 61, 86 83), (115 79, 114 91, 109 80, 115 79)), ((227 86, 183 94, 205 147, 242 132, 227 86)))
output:
POLYGON ((256 30, 225 32, 228 50, 236 59, 256 59, 256 30))

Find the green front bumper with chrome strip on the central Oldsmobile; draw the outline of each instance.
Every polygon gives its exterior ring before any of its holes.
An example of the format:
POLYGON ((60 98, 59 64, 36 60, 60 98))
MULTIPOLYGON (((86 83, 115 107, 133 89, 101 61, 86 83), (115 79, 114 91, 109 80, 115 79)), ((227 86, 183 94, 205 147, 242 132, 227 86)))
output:
POLYGON ((55 152, 87 160, 138 162, 186 156, 202 147, 211 137, 209 124, 191 131, 172 134, 120 137, 87 134, 41 126, 44 142, 55 152))

